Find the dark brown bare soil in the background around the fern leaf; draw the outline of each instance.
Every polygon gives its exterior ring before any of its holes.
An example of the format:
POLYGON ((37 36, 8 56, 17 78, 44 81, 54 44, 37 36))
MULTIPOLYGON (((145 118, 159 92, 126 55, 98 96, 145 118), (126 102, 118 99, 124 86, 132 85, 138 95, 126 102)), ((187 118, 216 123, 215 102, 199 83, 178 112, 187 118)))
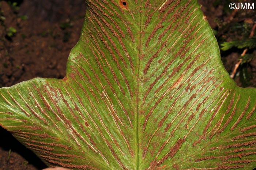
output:
MULTIPOLYGON (((68 54, 78 41, 82 28, 84 0, 18 2, 15 6, 0 0, 0 87, 35 77, 64 78, 68 54), (14 27, 16 33, 8 37, 10 27, 14 27)), ((216 22, 226 22, 231 12, 225 12, 225 0, 221 1, 224 5, 212 5, 215 2, 219 0, 199 0, 211 27, 219 31, 218 36, 231 37, 232 33, 223 30, 216 22)), ((234 16, 234 19, 237 18, 236 22, 256 20, 239 12, 234 16)), ((233 70, 241 53, 241 50, 222 53, 228 72, 233 70)), ((246 67, 250 77, 247 87, 256 87, 256 57, 243 67, 246 67)), ((236 76, 235 80, 239 86, 244 86, 240 76, 236 76)), ((0 128, 0 135, 0 170, 40 170, 46 167, 10 133, 0 128)))

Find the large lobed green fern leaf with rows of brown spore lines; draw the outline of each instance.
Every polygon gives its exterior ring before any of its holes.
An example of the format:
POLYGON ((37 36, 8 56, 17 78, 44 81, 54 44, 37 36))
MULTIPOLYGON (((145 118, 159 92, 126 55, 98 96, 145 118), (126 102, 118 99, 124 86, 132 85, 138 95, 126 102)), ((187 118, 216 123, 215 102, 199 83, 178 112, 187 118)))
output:
POLYGON ((195 0, 86 4, 67 76, 1 88, 1 126, 49 166, 256 166, 256 89, 229 78, 195 0))

